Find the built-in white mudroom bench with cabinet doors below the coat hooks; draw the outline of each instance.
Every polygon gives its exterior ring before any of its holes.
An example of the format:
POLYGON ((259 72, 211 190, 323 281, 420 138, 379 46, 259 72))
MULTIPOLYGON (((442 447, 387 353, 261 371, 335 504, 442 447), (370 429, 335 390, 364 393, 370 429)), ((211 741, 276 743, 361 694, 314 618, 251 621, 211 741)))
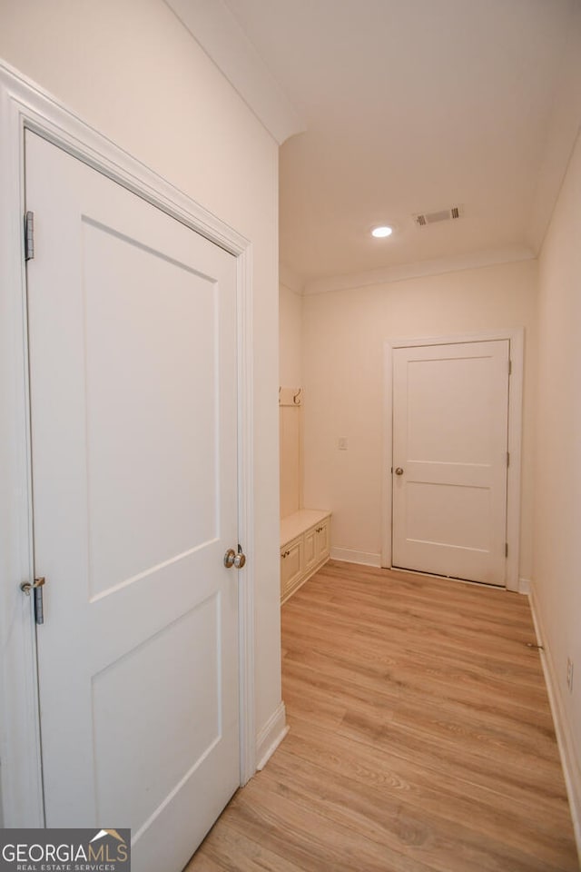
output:
POLYGON ((300 509, 281 520, 281 602, 330 557, 330 511, 300 509))

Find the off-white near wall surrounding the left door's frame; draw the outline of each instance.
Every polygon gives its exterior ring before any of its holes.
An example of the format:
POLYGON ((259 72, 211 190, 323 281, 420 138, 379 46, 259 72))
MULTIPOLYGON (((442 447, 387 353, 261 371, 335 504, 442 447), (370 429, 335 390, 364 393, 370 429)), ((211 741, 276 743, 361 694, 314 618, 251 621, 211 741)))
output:
POLYGON ((251 240, 260 730, 281 701, 278 147, 162 0, 0 0, 0 56, 251 240))

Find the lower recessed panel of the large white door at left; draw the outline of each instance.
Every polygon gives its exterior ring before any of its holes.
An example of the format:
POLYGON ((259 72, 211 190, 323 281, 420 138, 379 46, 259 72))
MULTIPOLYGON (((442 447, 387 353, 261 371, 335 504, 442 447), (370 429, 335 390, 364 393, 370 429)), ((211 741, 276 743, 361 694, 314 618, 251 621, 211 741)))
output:
POLYGON ((147 820, 219 741, 221 711, 215 688, 220 682, 220 650, 215 627, 220 617, 217 597, 205 599, 93 677, 98 819, 123 820, 131 809, 133 822, 147 820), (196 687, 195 697, 184 695, 188 683, 196 687), (202 705, 203 719, 198 717, 202 705), (134 750, 136 737, 140 754, 134 750), (163 766, 144 767, 143 758, 162 759, 163 766), (103 771, 107 778, 101 778, 103 771))

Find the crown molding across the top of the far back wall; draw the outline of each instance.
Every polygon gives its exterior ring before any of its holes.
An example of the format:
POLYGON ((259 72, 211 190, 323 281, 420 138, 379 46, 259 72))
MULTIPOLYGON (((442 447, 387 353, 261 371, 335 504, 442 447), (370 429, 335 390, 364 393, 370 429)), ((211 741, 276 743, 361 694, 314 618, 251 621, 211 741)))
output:
POLYGON ((501 248, 488 252, 460 254, 456 257, 442 257, 433 261, 418 263, 402 263, 399 266, 388 266, 369 272, 352 272, 349 275, 335 275, 306 282, 303 294, 328 293, 330 291, 349 291, 353 288, 368 287, 371 284, 388 284, 401 282, 404 279, 417 279, 427 275, 441 275, 443 272, 461 272, 474 270, 483 266, 495 266, 499 263, 517 263, 531 261, 535 253, 527 245, 512 248, 501 248))

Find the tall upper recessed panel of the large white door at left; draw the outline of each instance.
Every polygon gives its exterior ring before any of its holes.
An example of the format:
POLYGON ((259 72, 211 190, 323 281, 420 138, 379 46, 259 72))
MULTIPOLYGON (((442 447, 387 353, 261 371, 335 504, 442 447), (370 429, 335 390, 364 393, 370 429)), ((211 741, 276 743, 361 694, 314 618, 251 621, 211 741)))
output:
POLYGON ((83 230, 90 583, 97 595, 103 584, 216 539, 216 288, 110 229, 85 220, 83 230), (148 281, 133 282, 136 275, 148 281))

